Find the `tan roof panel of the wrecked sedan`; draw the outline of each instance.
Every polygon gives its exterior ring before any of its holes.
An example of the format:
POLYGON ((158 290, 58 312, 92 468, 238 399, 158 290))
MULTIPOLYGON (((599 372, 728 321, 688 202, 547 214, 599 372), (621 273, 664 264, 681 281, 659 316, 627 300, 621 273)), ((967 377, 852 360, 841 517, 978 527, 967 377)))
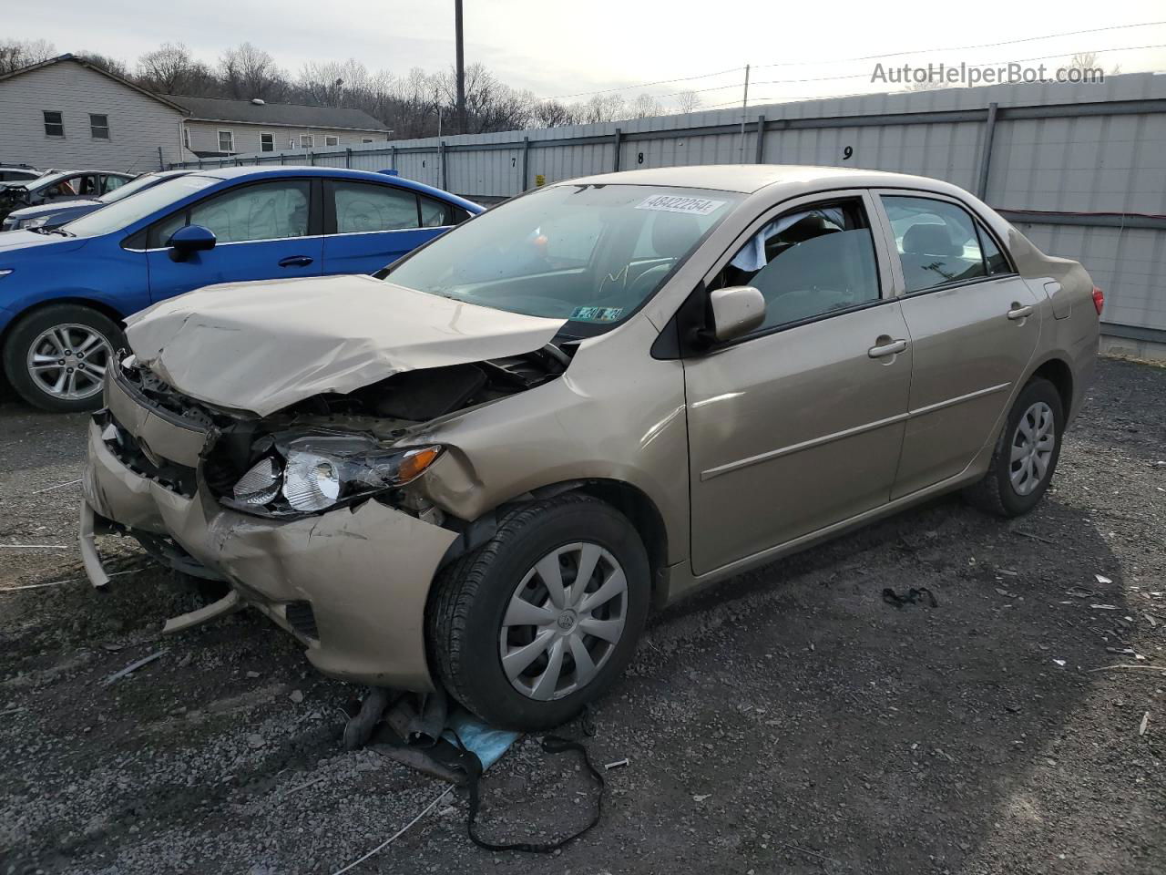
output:
POLYGON ((887 188, 927 188, 936 191, 951 188, 947 183, 925 176, 911 176, 902 173, 884 170, 864 170, 849 167, 814 167, 810 164, 698 164, 693 167, 654 167, 646 170, 624 170, 604 173, 595 176, 582 176, 575 180, 557 182, 566 184, 625 184, 625 186, 661 186, 668 188, 704 188, 721 191, 739 191, 752 194, 767 186, 788 186, 791 188, 812 189, 870 188, 885 186, 887 188))

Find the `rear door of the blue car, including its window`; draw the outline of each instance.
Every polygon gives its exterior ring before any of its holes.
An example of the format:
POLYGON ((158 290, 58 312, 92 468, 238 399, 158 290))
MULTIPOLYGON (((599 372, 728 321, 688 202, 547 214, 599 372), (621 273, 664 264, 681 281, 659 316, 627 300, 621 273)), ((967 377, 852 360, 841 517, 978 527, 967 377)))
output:
POLYGON ((324 182, 324 273, 374 273, 454 223, 454 208, 407 188, 324 182))

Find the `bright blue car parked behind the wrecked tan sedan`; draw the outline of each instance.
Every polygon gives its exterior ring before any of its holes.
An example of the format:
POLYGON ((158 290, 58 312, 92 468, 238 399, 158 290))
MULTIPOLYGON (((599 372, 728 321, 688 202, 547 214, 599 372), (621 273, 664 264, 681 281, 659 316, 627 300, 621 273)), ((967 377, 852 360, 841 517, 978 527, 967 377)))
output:
POLYGON ((5 373, 37 407, 92 410, 131 313, 218 282, 372 273, 482 211, 388 174, 232 167, 0 233, 5 373))

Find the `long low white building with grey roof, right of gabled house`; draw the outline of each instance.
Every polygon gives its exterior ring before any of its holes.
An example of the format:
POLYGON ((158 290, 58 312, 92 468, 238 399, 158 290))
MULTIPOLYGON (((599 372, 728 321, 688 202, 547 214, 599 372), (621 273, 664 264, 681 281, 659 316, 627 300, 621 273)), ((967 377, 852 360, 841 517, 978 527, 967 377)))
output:
POLYGON ((392 133, 363 110, 216 97, 173 99, 188 110, 184 144, 198 158, 289 148, 322 152, 384 142, 392 133))

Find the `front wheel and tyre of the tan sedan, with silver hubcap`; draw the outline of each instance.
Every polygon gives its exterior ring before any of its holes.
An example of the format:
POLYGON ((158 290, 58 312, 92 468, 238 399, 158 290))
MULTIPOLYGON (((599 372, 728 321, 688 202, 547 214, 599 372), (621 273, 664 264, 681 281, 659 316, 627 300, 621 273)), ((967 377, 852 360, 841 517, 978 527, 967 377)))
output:
POLYGON ((583 495, 524 505, 438 576, 430 658, 486 722, 549 729, 623 673, 649 589, 644 544, 613 508, 583 495))

